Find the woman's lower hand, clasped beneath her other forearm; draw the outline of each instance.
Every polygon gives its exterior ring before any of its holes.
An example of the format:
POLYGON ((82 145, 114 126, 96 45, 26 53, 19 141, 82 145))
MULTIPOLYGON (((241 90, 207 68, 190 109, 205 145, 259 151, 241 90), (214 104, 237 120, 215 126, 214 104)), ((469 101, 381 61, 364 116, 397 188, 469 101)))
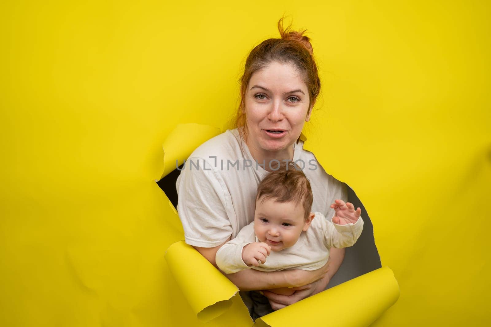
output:
POLYGON ((321 280, 300 287, 292 288, 292 290, 295 290, 295 293, 293 293, 292 295, 280 295, 266 290, 262 292, 264 296, 267 297, 270 301, 271 308, 273 310, 278 310, 284 308, 287 305, 293 304, 295 302, 308 298, 309 296, 324 291, 328 283, 329 276, 326 275, 326 277, 321 280))

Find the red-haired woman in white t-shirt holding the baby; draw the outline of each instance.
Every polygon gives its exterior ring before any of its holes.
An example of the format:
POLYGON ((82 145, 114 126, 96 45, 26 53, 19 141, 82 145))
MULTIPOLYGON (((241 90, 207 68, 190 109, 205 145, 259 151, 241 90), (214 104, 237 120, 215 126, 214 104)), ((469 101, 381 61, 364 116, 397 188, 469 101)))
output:
MULTIPOLYGON (((321 88, 309 38, 305 31, 283 29, 283 19, 278 29, 280 39, 262 42, 247 57, 237 128, 199 146, 176 183, 186 243, 215 266, 220 246, 254 219, 257 186, 279 162, 302 167, 311 181, 312 211, 331 218, 334 199, 347 200, 346 186, 328 175, 300 140, 321 88)), ((294 287, 290 296, 264 291, 277 310, 326 289, 343 257, 344 249, 331 249, 330 265, 316 271, 249 269, 226 276, 241 291, 294 287)))

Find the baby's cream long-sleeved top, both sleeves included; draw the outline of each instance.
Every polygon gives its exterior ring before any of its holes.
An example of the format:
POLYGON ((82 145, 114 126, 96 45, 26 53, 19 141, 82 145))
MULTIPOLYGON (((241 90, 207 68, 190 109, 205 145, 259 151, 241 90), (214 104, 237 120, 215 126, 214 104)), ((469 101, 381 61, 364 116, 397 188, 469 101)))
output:
POLYGON ((326 264, 329 248, 354 245, 362 230, 361 217, 354 224, 338 225, 327 220, 320 212, 316 212, 309 229, 301 232, 297 243, 280 251, 271 251, 265 263, 260 264, 259 267, 249 267, 242 260, 242 250, 247 244, 259 242, 252 221, 239 232, 236 238, 218 249, 217 266, 224 273, 237 273, 249 268, 262 272, 284 269, 316 270, 326 264))

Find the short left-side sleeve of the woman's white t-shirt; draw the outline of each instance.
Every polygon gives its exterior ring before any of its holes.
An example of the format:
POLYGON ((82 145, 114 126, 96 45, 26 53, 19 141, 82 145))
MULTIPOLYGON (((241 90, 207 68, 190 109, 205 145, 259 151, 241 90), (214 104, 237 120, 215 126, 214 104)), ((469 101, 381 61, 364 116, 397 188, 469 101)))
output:
POLYGON ((189 245, 214 247, 232 235, 226 188, 211 167, 202 158, 189 158, 176 182, 177 212, 189 245))

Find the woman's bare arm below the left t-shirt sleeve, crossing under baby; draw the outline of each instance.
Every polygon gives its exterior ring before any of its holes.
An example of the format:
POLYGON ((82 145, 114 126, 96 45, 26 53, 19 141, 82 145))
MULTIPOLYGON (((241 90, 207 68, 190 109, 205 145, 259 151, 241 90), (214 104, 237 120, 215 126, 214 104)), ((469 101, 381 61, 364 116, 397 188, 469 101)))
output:
MULTIPOLYGON (((218 249, 230 241, 228 238, 222 244, 215 247, 193 246, 202 256, 204 256, 217 269, 215 260, 218 249)), ((260 272, 254 269, 246 269, 238 273, 225 274, 241 291, 263 290, 279 287, 297 287, 310 284, 316 280, 325 278, 329 270, 329 263, 324 267, 314 271, 304 270, 285 270, 279 272, 260 272)))

